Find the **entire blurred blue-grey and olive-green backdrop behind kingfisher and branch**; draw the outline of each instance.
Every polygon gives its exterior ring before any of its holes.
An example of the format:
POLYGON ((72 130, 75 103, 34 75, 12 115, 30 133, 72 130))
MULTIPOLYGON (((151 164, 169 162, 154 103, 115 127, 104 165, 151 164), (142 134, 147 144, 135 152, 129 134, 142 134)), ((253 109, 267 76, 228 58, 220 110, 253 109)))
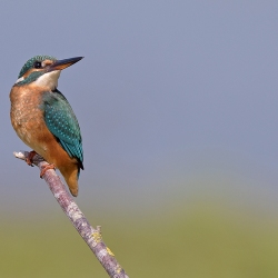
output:
POLYGON ((277 1, 1 1, 0 277, 107 277, 13 131, 36 54, 83 138, 77 202, 130 277, 278 277, 277 1))

